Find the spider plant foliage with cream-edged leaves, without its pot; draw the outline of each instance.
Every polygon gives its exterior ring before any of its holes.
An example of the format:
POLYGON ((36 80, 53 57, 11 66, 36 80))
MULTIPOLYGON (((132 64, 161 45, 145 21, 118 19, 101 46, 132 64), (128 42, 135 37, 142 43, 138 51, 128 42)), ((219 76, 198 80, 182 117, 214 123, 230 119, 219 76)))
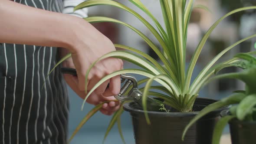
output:
MULTIPOLYGON (((143 3, 141 3, 140 0, 129 0, 129 1, 133 3, 135 6, 137 6, 139 9, 141 9, 144 13, 146 13, 149 16, 149 18, 151 18, 156 28, 152 26, 151 23, 145 20, 142 16, 136 13, 134 10, 114 0, 87 0, 83 3, 80 3, 77 7, 75 7, 75 10, 79 10, 85 7, 96 6, 96 5, 109 5, 109 6, 118 7, 122 10, 125 10, 131 13, 132 15, 137 17, 138 20, 140 20, 155 36, 161 48, 163 49, 162 52, 159 50, 156 44, 151 41, 151 39, 149 39, 147 36, 141 33, 139 29, 136 29, 135 27, 129 25, 128 23, 124 23, 119 20, 115 20, 109 17, 102 17, 102 16, 92 16, 84 19, 89 23, 112 22, 112 23, 118 23, 128 27, 129 29, 133 30, 135 33, 138 33, 138 35, 141 36, 142 39, 144 39, 144 41, 158 55, 158 57, 161 60, 161 63, 163 64, 160 64, 155 59, 148 56, 146 53, 141 52, 135 48, 131 48, 129 46, 124 46, 120 44, 115 44, 116 47, 124 50, 110 52, 105 56, 102 56, 96 62, 108 57, 115 57, 118 59, 126 60, 128 62, 132 62, 135 65, 140 66, 142 69, 124 69, 117 72, 113 72, 112 74, 105 76, 94 86, 94 88, 92 88, 90 92, 87 93, 84 103, 86 99, 89 97, 89 95, 107 79, 110 79, 116 75, 125 74, 125 73, 144 75, 148 77, 148 79, 143 79, 140 82, 138 82, 138 84, 146 82, 145 87, 142 88, 143 89, 142 103, 143 103, 143 109, 145 111, 145 117, 148 124, 150 124, 150 120, 147 114, 147 105, 146 105, 146 100, 148 96, 155 96, 163 99, 164 102, 162 104, 171 106, 172 108, 175 108, 177 111, 181 111, 181 112, 192 111, 194 101, 198 96, 200 88, 203 86, 204 82, 206 82, 207 79, 209 79, 210 76, 214 74, 215 69, 221 67, 223 64, 230 64, 230 63, 236 62, 236 59, 230 59, 215 65, 217 60, 219 60, 221 56, 223 56, 230 49, 233 49, 238 44, 256 36, 256 35, 249 36, 224 49, 203 68, 203 70, 200 72, 200 74, 197 76, 194 82, 191 82, 192 73, 196 65, 197 59, 199 58, 200 52, 202 51, 203 46, 206 43, 213 29, 227 16, 230 16, 234 13, 241 12, 243 10, 256 9, 256 7, 244 7, 244 8, 236 9, 231 11, 230 13, 227 13, 225 16, 217 20, 201 39, 200 43, 197 46, 197 49, 194 52, 192 59, 190 60, 190 64, 186 71, 185 58, 186 58, 186 48, 187 48, 187 43, 186 43, 187 27, 190 21, 191 11, 194 8, 194 0, 160 0, 159 2, 161 4, 161 11, 164 18, 164 27, 161 26, 161 24, 154 17, 154 15, 144 6, 143 3), (162 86, 151 86, 154 80, 160 83, 162 86), (150 91, 151 89, 158 89, 162 91, 164 94, 158 93, 158 92, 152 92, 150 91)), ((202 6, 199 6, 199 7, 202 7, 202 6)), ((67 55, 66 57, 61 59, 59 63, 69 58, 70 56, 71 54, 67 55)), ((90 69, 95 65, 96 62, 94 62, 91 65, 90 69)), ((89 74, 90 69, 88 70, 87 75, 89 74)), ((85 84, 87 84, 87 79, 85 80, 85 84)), ((87 85, 85 85, 85 92, 87 92, 87 85)), ((100 105, 96 106, 96 108, 98 108, 97 110, 99 110, 99 107, 100 105)), ((121 115, 122 111, 123 110, 121 108, 119 111, 115 113, 115 115, 112 118, 112 121, 109 124, 106 135, 108 134, 112 126, 115 124, 115 122, 120 122, 118 121, 119 120, 118 118, 119 118, 119 115, 121 115)), ((77 130, 79 130, 79 128, 82 127, 85 121, 87 121, 87 119, 89 119, 94 113, 95 111, 90 112, 85 117, 85 120, 82 121, 82 123, 79 125, 77 130)))

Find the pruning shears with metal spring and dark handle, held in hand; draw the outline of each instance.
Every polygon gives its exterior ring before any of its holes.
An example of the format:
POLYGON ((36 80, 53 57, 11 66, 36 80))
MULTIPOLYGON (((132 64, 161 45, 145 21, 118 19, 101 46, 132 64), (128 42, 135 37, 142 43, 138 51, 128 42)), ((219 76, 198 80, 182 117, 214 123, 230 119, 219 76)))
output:
MULTIPOLYGON (((77 76, 76 70, 72 68, 61 68, 61 72, 65 74, 70 74, 73 76, 77 76)), ((128 74, 121 74, 121 83, 124 83, 124 85, 121 87, 120 92, 118 95, 115 95, 115 98, 119 101, 135 101, 140 106, 142 106, 142 92, 138 89, 138 83, 137 79, 135 79, 134 76, 128 75, 128 74), (130 89, 130 87, 132 88, 130 89), (130 89, 129 92, 127 92, 130 89), (127 93, 127 95, 125 95, 127 93)), ((107 86, 107 88, 109 85, 107 86)), ((159 106, 158 103, 156 103, 153 98, 148 97, 147 98, 148 104, 151 106, 159 106)))

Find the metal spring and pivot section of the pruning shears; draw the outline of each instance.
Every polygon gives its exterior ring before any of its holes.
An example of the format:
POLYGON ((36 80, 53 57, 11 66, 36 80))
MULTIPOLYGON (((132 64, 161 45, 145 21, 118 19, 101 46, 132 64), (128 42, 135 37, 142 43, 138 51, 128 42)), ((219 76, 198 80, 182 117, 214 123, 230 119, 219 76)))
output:
POLYGON ((121 83, 125 82, 125 84, 121 87, 120 93, 118 95, 115 95, 115 98, 119 101, 140 101, 142 92, 138 90, 137 80, 135 77, 131 75, 120 75, 121 76, 121 83), (125 93, 128 91, 128 89, 132 86, 131 90, 128 92, 128 95, 125 95, 125 93))

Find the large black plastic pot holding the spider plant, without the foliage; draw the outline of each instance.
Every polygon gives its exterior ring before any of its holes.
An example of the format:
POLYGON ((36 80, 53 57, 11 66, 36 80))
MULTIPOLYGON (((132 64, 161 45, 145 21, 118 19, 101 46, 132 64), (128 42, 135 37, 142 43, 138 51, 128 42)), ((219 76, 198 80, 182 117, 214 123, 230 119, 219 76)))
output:
POLYGON ((132 116, 136 144, 211 144, 213 128, 220 118, 220 111, 227 107, 217 109, 197 121, 187 131, 184 141, 181 141, 181 136, 185 126, 198 111, 213 102, 216 101, 197 98, 194 112, 187 113, 148 111, 150 125, 146 123, 144 111, 137 103, 127 103, 124 109, 132 116))

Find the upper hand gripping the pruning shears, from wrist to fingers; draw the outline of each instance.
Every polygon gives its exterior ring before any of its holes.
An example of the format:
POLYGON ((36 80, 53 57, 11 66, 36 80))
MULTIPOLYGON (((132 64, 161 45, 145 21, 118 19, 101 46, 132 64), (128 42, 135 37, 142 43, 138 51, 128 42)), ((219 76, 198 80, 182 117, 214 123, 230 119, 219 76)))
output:
MULTIPOLYGON (((76 27, 75 40, 72 43, 72 60, 78 74, 78 85, 81 91, 85 90, 85 75, 89 66, 95 62, 99 57, 108 52, 115 51, 113 43, 91 24, 85 20, 77 18, 79 26, 76 27)), ((88 76, 88 90, 104 76, 123 69, 123 62, 121 59, 107 58, 103 59, 89 72, 88 76)), ((115 76, 100 85, 95 93, 97 95, 113 96, 120 91, 120 76, 115 76), (106 89, 109 83, 109 88, 106 89)))

